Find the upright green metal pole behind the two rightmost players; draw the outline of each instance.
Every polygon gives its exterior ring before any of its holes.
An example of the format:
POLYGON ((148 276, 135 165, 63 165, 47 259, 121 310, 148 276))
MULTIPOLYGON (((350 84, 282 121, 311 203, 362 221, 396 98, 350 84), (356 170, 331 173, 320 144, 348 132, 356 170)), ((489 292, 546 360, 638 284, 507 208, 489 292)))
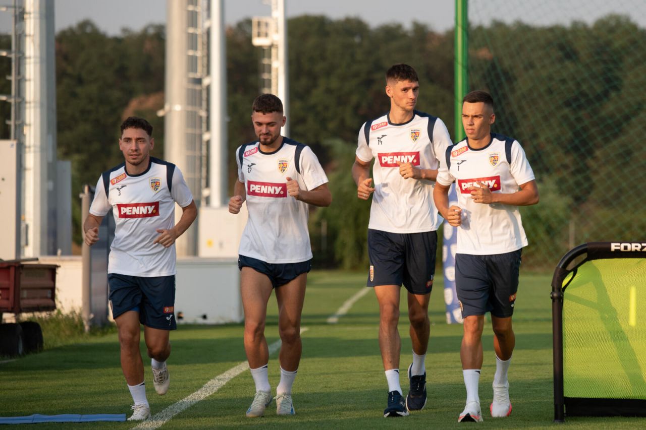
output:
POLYGON ((469 47, 469 18, 467 14, 468 0, 455 0, 455 141, 464 139, 462 128, 462 99, 468 92, 468 47, 469 47))

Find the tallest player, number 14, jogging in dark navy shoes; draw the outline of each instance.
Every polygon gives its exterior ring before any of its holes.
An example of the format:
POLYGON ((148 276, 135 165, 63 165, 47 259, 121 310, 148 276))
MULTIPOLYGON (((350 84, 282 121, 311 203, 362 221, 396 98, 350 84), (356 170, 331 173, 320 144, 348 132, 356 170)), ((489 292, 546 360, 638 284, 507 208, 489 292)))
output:
POLYGON ((436 230, 441 223, 433 205, 433 181, 451 138, 441 119, 415 110, 418 94, 419 79, 412 67, 398 64, 388 69, 390 111, 362 125, 352 167, 357 197, 368 200, 373 194, 368 286, 374 287, 379 302, 379 347, 388 381, 384 417, 406 416, 426 405, 428 301, 435 274, 436 230), (373 158, 374 184, 370 178, 373 158), (413 343, 405 402, 399 382, 401 339, 397 331, 402 283, 408 290, 413 343))

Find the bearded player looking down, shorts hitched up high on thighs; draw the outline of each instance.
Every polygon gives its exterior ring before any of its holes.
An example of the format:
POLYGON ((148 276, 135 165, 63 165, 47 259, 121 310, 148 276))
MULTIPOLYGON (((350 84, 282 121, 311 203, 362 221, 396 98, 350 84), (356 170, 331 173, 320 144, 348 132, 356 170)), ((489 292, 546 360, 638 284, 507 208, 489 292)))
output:
POLYGON ((238 147, 238 180, 229 212, 238 214, 247 202, 249 218, 240 240, 240 291, 244 308, 244 347, 256 385, 247 416, 264 415, 271 403, 265 339, 267 303, 278 302, 278 333, 282 345, 276 414, 294 415, 291 388, 302 344, 300 314, 305 299, 312 251, 307 230, 307 205, 328 206, 328 178, 314 152, 280 135, 285 125, 282 102, 272 94, 256 97, 251 121, 258 140, 238 147))

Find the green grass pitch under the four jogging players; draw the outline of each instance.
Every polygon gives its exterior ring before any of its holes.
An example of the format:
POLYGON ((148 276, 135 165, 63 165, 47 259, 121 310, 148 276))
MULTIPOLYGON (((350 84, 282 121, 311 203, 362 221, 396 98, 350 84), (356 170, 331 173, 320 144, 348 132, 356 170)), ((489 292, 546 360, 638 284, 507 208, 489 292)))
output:
MULTIPOLYGON (((272 403, 264 418, 246 418, 244 413, 254 393, 248 371, 235 376, 211 396, 173 416, 164 429, 238 429, 263 425, 276 429, 380 429, 402 425, 412 428, 462 426, 465 391, 459 360, 461 325, 447 325, 444 316, 442 279, 433 288, 430 320, 431 340, 426 356, 428 403, 424 410, 406 418, 384 419, 387 385, 377 340, 379 310, 369 292, 351 307, 339 323, 329 324, 334 314, 365 284, 365 274, 318 271, 309 276, 303 311, 303 356, 293 389, 297 415, 278 417, 272 403)), ((510 396, 514 411, 509 418, 491 418, 488 405, 495 358, 490 324, 485 326, 485 363, 480 384, 484 428, 626 428, 646 426, 644 418, 567 418, 552 424, 552 318, 550 276, 521 276, 514 329, 516 351, 510 367, 510 396)), ((403 291, 403 289, 402 289, 403 291)), ((406 300, 402 296, 402 388, 411 360, 406 300)), ((269 343, 278 339, 275 299, 267 318, 269 343)), ((158 396, 152 387, 150 367, 146 382, 152 414, 180 402, 205 383, 244 362, 242 325, 180 325, 171 334, 169 359, 171 389, 158 396)), ((47 336, 47 333, 45 333, 47 336)), ((143 345, 143 342, 142 342, 143 345)), ((142 349, 145 356, 145 351, 142 349)), ((269 377, 275 391, 279 370, 277 353, 269 361, 269 377)), ((145 363, 148 361, 145 360, 145 363)), ((116 334, 92 338, 0 364, 0 416, 40 413, 127 413, 132 399, 121 374, 116 334)), ((471 424, 466 424, 467 426, 471 424)), ((473 424, 476 425, 476 424, 473 424)), ((23 424, 21 429, 126 429, 131 423, 23 424)), ((150 427, 152 428, 152 427, 150 427)))

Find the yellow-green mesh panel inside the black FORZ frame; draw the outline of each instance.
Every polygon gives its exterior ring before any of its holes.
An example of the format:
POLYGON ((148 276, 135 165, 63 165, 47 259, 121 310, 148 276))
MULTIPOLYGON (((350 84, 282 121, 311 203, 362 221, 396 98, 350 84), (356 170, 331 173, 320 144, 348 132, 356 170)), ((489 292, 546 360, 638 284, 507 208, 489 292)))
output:
POLYGON ((565 289, 563 391, 646 399, 646 259, 587 261, 565 289))

